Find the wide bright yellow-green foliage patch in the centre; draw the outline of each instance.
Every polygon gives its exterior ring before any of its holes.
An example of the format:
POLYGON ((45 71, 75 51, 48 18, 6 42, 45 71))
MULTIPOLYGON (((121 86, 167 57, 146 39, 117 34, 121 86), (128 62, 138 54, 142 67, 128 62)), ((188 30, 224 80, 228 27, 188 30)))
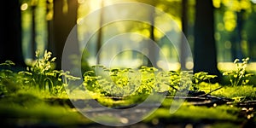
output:
POLYGON ((123 97, 159 92, 168 92, 169 95, 174 96, 177 90, 199 91, 198 84, 203 81, 210 83, 211 79, 217 77, 204 72, 195 73, 193 76, 191 72, 158 71, 154 67, 141 67, 139 70, 107 69, 103 66, 93 68, 96 72, 84 73, 84 87, 102 96, 123 97))

